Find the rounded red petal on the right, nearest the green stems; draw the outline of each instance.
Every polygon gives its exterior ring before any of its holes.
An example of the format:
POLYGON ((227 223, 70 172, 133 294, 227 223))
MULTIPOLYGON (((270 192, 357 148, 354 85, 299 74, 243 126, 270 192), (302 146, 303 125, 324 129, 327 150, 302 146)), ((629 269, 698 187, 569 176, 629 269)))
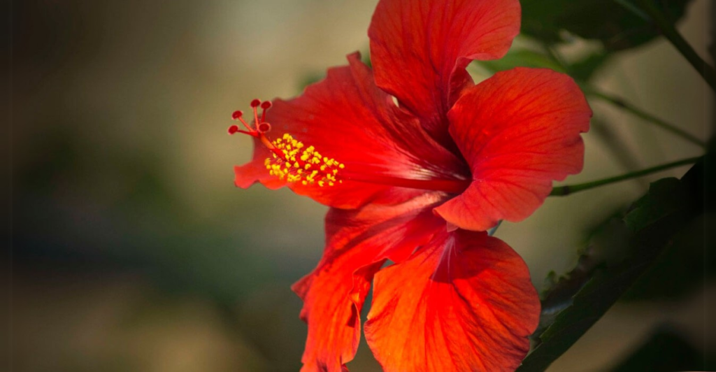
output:
POLYGON ((579 134, 589 130, 591 109, 564 74, 499 72, 466 91, 448 117, 473 182, 435 211, 458 227, 487 230, 498 220, 523 220, 549 195, 552 180, 581 172, 579 134))

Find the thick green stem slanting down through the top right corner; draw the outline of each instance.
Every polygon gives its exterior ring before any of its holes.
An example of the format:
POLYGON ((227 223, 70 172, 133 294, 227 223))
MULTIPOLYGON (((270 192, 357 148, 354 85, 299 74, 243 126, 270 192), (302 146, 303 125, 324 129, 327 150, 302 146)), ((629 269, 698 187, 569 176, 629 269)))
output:
POLYGON ((714 72, 714 68, 707 64, 689 43, 687 43, 684 37, 679 34, 679 31, 674 28, 674 24, 654 5, 653 0, 639 0, 639 4, 642 6, 644 12, 651 17, 654 25, 657 26, 662 35, 671 41, 674 47, 676 47, 696 71, 701 74, 704 80, 711 86, 711 89, 716 90, 716 72, 714 72))

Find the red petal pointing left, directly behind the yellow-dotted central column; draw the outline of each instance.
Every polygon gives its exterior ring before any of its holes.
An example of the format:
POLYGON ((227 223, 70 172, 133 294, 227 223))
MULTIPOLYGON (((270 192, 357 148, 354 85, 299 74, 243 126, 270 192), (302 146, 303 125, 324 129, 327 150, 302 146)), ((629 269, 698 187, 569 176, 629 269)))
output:
MULTIPOLYGON (((312 145, 325 157, 344 163, 339 177, 427 180, 467 174, 464 162, 437 145, 415 117, 398 109, 390 96, 375 87, 371 71, 360 62, 359 54, 348 59, 348 67, 329 69, 324 81, 311 85, 300 97, 277 99, 267 115, 273 128, 269 135, 289 133, 306 147, 312 145)), ((253 161, 237 168, 236 185, 246 187, 256 180, 270 187, 285 185, 269 176, 263 165, 269 151, 258 141, 255 145, 253 161)), ((397 203, 422 193, 354 180, 333 187, 298 183, 289 187, 326 205, 343 208, 367 202, 397 203)))

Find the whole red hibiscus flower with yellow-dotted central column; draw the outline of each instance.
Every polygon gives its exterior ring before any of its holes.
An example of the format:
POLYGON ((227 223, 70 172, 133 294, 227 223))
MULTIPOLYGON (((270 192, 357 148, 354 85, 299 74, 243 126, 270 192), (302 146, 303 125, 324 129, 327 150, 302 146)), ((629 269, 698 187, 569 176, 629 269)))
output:
POLYGON ((332 207, 324 256, 294 285, 304 371, 345 369, 372 282, 365 335, 387 371, 511 370, 528 352, 536 290, 485 230, 580 172, 591 110, 547 69, 473 83, 468 63, 502 57, 519 24, 516 0, 381 0, 373 69, 351 54, 300 97, 252 102, 253 126, 234 114, 229 132, 256 145, 238 187, 287 185, 332 207))

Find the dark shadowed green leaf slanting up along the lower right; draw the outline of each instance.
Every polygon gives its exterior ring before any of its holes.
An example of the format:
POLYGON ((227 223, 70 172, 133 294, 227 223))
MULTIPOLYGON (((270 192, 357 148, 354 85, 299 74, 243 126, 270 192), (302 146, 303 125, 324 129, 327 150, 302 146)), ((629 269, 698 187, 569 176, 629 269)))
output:
MULTIPOLYGON (((652 183, 647 195, 634 203, 627 215, 633 235, 629 235, 629 255, 621 261, 600 265, 592 270, 589 280, 571 298, 571 304, 554 318, 546 330, 539 333, 537 346, 518 371, 543 371, 567 351, 601 318, 611 305, 654 263, 662 252, 674 244, 679 234, 692 220, 702 214, 705 184, 705 164, 701 160, 682 180, 664 179, 652 183), (674 205, 674 200, 680 200, 674 205)), ((712 180, 709 180, 712 185, 712 180)), ((544 307, 544 310, 551 308, 544 307)))

